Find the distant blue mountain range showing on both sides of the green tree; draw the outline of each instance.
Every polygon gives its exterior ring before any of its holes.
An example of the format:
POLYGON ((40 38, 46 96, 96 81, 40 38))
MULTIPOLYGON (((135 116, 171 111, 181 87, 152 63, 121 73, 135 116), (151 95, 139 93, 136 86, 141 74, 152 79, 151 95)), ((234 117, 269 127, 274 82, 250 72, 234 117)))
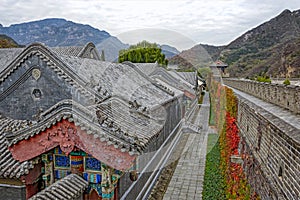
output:
MULTIPOLYGON (((50 47, 82 46, 93 42, 100 52, 104 51, 106 61, 117 61, 119 51, 129 47, 106 31, 59 18, 14 24, 9 27, 0 24, 0 34, 8 35, 23 45, 41 42, 50 47)), ((176 48, 168 45, 162 45, 161 48, 167 58, 179 53, 176 48)))

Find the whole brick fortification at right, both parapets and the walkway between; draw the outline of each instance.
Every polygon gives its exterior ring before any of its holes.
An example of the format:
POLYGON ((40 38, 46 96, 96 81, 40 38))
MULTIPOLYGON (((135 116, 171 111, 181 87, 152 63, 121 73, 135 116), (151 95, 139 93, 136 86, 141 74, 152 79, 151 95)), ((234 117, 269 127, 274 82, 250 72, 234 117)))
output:
POLYGON ((261 199, 300 198, 300 87, 223 79, 238 97, 240 154, 261 199))

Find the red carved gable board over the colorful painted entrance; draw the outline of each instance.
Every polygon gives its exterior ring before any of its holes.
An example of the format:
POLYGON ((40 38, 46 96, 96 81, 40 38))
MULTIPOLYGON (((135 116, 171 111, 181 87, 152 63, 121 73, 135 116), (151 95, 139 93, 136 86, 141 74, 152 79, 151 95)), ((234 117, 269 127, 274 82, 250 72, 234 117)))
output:
POLYGON ((23 162, 56 146, 60 146, 66 154, 69 154, 76 146, 110 167, 122 171, 129 169, 136 158, 136 156, 130 156, 128 152, 121 152, 113 145, 108 146, 106 142, 95 139, 93 134, 87 134, 67 120, 58 122, 28 140, 18 142, 9 147, 9 150, 14 159, 23 162))

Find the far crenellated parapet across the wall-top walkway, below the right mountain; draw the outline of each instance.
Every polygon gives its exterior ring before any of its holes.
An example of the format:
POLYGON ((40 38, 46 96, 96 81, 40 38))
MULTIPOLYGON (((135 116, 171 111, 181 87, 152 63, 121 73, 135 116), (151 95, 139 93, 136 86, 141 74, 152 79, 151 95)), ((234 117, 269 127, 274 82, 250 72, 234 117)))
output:
POLYGON ((223 81, 230 87, 300 114, 300 86, 240 79, 223 79, 223 81))

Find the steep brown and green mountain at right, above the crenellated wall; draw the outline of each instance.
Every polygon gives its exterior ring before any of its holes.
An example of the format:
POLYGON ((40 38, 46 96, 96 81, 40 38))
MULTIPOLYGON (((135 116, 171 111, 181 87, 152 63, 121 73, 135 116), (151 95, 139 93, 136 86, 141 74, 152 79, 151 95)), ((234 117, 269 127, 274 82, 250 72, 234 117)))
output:
POLYGON ((300 77, 299 56, 300 10, 284 10, 232 41, 220 57, 231 76, 300 77))

